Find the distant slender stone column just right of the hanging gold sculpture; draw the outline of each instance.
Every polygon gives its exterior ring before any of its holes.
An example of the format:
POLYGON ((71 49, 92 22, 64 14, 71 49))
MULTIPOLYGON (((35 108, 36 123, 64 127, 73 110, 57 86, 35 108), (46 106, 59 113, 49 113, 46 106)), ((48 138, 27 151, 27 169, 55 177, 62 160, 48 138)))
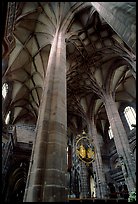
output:
POLYGON ((93 162, 93 168, 96 173, 96 197, 97 198, 105 198, 107 196, 107 185, 105 180, 105 174, 103 171, 103 163, 101 157, 101 150, 98 141, 97 129, 94 123, 94 118, 89 121, 89 134, 90 138, 93 139, 93 144, 96 148, 96 157, 93 162))

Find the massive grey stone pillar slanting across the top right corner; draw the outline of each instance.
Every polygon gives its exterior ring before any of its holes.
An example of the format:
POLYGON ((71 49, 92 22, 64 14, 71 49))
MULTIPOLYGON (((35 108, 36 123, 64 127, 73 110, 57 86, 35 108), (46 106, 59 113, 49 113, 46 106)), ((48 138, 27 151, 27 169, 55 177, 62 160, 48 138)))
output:
POLYGON ((92 2, 92 5, 136 53, 136 2, 92 2))

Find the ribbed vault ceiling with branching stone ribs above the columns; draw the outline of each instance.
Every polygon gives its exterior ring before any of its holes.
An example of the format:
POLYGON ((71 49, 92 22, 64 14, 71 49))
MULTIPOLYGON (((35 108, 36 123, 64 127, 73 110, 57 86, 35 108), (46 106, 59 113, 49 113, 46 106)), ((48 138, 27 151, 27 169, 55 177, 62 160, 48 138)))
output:
POLYGON ((4 75, 13 84, 9 109, 14 111, 14 124, 36 123, 52 40, 71 13, 74 17, 66 32, 68 125, 85 126, 95 100, 94 114, 106 120, 100 99, 105 90, 113 92, 118 107, 135 99, 132 53, 90 3, 77 12, 81 4, 20 4, 13 31, 15 48, 4 75))

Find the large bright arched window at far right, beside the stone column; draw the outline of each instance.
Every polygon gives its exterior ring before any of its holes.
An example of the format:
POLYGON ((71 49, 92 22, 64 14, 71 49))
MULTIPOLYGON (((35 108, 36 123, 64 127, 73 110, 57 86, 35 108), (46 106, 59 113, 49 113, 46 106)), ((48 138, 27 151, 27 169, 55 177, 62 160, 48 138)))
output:
POLYGON ((124 109, 124 114, 125 114, 130 130, 132 130, 134 128, 132 125, 136 125, 136 112, 134 108, 127 106, 124 109))

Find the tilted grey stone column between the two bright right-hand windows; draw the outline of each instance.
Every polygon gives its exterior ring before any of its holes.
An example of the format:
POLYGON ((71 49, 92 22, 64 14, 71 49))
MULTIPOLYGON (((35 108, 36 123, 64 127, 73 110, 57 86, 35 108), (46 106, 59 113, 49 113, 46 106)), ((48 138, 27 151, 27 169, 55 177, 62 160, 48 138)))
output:
POLYGON ((136 164, 133 154, 130 149, 129 141, 126 131, 122 124, 117 106, 111 94, 104 95, 104 104, 108 120, 113 132, 114 142, 117 153, 122 165, 122 171, 128 187, 129 192, 135 188, 136 185, 136 164))

